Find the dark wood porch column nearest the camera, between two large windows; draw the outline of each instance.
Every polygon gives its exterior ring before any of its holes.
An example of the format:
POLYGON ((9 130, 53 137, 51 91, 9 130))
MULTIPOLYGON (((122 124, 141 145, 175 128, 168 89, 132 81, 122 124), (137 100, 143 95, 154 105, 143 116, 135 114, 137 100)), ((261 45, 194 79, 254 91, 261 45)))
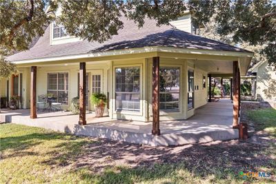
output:
POLYGON ((159 129, 159 57, 152 58, 152 135, 160 135, 159 129))

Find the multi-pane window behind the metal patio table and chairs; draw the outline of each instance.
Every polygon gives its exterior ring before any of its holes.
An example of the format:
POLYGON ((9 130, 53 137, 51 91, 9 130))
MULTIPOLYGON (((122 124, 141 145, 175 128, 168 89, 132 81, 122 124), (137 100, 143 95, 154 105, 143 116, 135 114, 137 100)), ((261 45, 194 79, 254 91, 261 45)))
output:
POLYGON ((68 73, 49 73, 47 93, 57 97, 57 102, 68 104, 68 73))

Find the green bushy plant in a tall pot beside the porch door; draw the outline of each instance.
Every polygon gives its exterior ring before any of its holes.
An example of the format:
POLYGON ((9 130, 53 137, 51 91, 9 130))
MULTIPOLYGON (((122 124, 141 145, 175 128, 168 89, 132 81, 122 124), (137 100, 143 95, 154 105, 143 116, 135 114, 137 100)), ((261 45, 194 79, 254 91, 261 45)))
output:
POLYGON ((106 107, 106 94, 94 93, 91 95, 90 101, 95 106, 96 117, 102 117, 106 107))

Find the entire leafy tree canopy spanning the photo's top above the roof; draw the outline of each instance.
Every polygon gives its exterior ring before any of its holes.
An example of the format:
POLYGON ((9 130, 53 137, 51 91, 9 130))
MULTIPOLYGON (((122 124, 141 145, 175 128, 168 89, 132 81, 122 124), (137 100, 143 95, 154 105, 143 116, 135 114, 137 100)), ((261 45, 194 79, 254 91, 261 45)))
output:
POLYGON ((146 17, 156 19, 157 25, 161 25, 189 9, 197 25, 207 23, 217 14, 218 34, 232 34, 237 43, 264 44, 268 61, 276 62, 276 6, 272 0, 0 0, 0 4, 0 54, 3 56, 27 50, 34 37, 41 36, 45 26, 54 19, 72 36, 103 42, 124 27, 122 16, 140 27, 146 17), (50 16, 58 5, 61 16, 50 16))

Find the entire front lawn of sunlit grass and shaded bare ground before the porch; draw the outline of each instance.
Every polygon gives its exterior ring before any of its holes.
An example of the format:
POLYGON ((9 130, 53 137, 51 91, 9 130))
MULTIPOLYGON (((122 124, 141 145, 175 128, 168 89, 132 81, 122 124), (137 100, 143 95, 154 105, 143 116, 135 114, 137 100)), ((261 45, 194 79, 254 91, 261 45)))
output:
POLYGON ((6 123, 0 125, 0 183, 273 183, 271 145, 217 141, 150 147, 6 123))

